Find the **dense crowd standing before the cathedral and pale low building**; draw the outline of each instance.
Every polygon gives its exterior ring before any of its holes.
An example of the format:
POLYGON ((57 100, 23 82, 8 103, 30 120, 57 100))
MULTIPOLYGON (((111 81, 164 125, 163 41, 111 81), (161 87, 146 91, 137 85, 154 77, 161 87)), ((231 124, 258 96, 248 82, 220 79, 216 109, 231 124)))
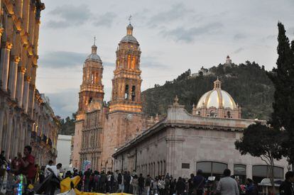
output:
POLYGON ((239 180, 231 176, 229 169, 224 171, 224 177, 216 177, 214 181, 205 179, 202 170, 197 174, 191 174, 190 179, 182 177, 173 178, 172 175, 159 175, 151 178, 150 175, 143 177, 142 174, 133 172, 97 172, 87 169, 84 174, 74 170, 73 174, 68 172, 67 177, 80 176, 82 179, 77 185, 77 189, 87 192, 127 194, 258 194, 257 186, 251 179, 247 179, 247 184, 243 188, 239 180))

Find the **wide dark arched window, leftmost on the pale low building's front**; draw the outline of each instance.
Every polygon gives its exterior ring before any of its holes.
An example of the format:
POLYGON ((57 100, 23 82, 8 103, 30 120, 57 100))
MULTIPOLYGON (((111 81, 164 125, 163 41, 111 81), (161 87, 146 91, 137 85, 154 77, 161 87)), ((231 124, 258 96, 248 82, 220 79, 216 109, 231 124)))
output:
POLYGON ((197 169, 201 169, 204 177, 209 176, 222 176, 224 169, 227 169, 228 165, 222 162, 197 162, 197 169))

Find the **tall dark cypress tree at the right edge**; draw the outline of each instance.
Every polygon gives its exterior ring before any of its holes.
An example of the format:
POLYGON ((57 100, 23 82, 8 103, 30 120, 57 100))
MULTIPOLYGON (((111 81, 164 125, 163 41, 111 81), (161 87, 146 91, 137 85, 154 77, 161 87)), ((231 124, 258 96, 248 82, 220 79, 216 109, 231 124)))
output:
POLYGON ((294 42, 290 45, 285 28, 278 23, 277 67, 268 73, 276 89, 273 96, 273 113, 269 123, 273 128, 285 129, 284 150, 289 164, 294 163, 294 42))

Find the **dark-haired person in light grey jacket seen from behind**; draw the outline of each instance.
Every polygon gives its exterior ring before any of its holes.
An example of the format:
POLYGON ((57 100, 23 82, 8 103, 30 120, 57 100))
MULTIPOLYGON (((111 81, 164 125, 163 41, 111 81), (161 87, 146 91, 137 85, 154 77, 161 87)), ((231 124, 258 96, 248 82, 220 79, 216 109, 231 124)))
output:
POLYGON ((224 169, 224 177, 217 184, 217 193, 221 195, 239 195, 238 184, 231 176, 230 169, 224 169))

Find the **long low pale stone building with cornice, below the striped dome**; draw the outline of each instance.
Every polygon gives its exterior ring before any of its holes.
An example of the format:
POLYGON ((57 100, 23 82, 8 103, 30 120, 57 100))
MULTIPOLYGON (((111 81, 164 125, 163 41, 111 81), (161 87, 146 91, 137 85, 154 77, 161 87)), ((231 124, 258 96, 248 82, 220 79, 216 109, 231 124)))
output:
MULTIPOLYGON (((214 82, 214 87, 217 83, 220 82, 214 82)), ((234 104, 229 94, 227 97, 234 104)), ((208 102, 209 99, 216 99, 221 106, 219 94, 212 92, 207 99, 208 102)), ((198 104, 202 104, 202 99, 198 104)), ((261 182, 261 179, 268 177, 266 163, 258 157, 240 155, 234 146, 234 142, 241 138, 242 130, 255 122, 239 115, 190 114, 175 98, 163 120, 116 150, 113 155, 114 169, 136 169, 136 172, 144 176, 150 174, 151 177, 169 173, 178 178, 189 177, 197 169, 202 169, 205 177, 220 176, 224 169, 229 168, 242 183, 246 182, 246 178, 261 182)), ((275 177, 283 179, 288 171, 288 162, 283 159, 275 165, 275 177)))

